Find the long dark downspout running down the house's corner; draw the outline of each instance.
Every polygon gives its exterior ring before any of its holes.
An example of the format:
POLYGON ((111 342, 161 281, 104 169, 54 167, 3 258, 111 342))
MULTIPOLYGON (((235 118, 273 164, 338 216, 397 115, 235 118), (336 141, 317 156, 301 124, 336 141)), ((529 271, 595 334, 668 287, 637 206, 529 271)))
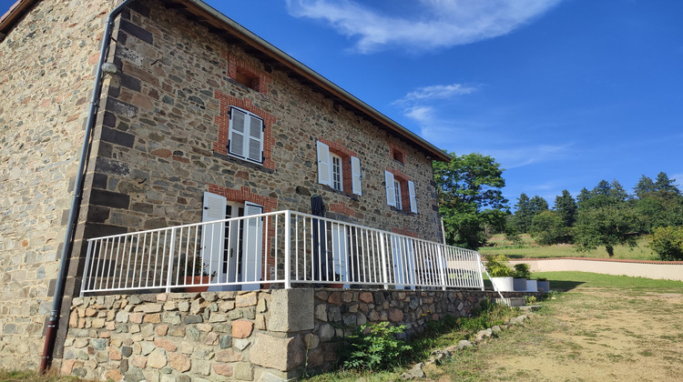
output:
POLYGON ((59 271, 56 277, 55 296, 52 300, 52 311, 46 323, 46 338, 45 346, 43 347, 43 357, 40 359, 40 373, 45 373, 47 368, 52 363, 52 353, 55 350, 55 339, 57 334, 57 326, 59 324, 59 310, 62 307, 62 299, 64 298, 64 282, 66 278, 66 270, 68 269, 69 252, 73 246, 74 232, 76 230, 76 218, 78 215, 78 207, 83 197, 83 177, 86 169, 87 155, 90 151, 90 136, 92 135, 95 121, 97 120, 97 109, 99 106, 99 97, 102 93, 102 65, 107 60, 109 52, 109 39, 111 38, 111 29, 114 25, 114 19, 119 15, 123 9, 133 0, 124 0, 117 5, 109 15, 107 15, 107 24, 105 25, 105 33, 102 36, 102 47, 99 51, 99 61, 97 62, 97 71, 95 72, 95 81, 93 84, 93 94, 90 98, 90 111, 87 115, 86 134, 83 137, 83 146, 81 147, 81 155, 78 163, 78 170, 76 172, 76 181, 74 182, 74 193, 71 199, 71 208, 69 209, 68 222, 66 223, 66 233, 64 236, 64 246, 62 246, 62 255, 59 258, 59 271))

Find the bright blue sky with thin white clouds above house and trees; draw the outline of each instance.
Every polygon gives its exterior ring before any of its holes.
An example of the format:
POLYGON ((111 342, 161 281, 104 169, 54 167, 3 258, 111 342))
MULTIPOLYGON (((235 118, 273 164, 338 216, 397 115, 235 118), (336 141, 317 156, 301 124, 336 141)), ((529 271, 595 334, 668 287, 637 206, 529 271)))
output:
POLYGON ((207 3, 435 146, 494 156, 511 206, 683 184, 683 2, 207 3))

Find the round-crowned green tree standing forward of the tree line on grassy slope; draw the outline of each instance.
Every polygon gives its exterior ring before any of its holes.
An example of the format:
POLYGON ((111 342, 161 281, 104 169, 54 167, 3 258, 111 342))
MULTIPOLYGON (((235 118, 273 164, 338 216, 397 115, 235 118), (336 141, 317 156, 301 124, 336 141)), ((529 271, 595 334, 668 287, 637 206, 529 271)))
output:
POLYGON ((574 242, 579 251, 605 246, 607 254, 612 257, 614 246, 637 246, 638 229, 639 217, 626 205, 581 208, 576 221, 574 242))

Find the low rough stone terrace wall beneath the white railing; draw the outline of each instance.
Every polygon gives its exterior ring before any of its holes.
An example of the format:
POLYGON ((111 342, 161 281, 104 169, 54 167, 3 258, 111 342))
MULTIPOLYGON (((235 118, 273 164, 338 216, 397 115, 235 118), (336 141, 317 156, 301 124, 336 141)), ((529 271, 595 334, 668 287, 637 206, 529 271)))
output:
POLYGON ((139 381, 281 380, 330 369, 336 337, 368 322, 422 331, 481 291, 275 289, 76 297, 61 372, 139 381))

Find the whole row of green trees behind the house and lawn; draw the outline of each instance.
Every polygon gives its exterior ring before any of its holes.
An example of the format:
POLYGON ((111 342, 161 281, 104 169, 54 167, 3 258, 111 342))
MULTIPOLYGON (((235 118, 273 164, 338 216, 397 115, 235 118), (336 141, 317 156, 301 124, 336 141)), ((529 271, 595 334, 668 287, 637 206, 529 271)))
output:
POLYGON ((660 172, 641 176, 630 194, 617 180, 601 180, 572 196, 563 190, 550 207, 541 196, 521 194, 511 213, 502 193, 504 169, 491 156, 453 156, 434 163, 434 181, 446 242, 476 249, 494 233, 513 241, 530 234, 541 245, 573 244, 578 250, 604 246, 614 256, 617 245, 636 246, 651 235, 652 249, 663 260, 683 260, 683 194, 660 172))

